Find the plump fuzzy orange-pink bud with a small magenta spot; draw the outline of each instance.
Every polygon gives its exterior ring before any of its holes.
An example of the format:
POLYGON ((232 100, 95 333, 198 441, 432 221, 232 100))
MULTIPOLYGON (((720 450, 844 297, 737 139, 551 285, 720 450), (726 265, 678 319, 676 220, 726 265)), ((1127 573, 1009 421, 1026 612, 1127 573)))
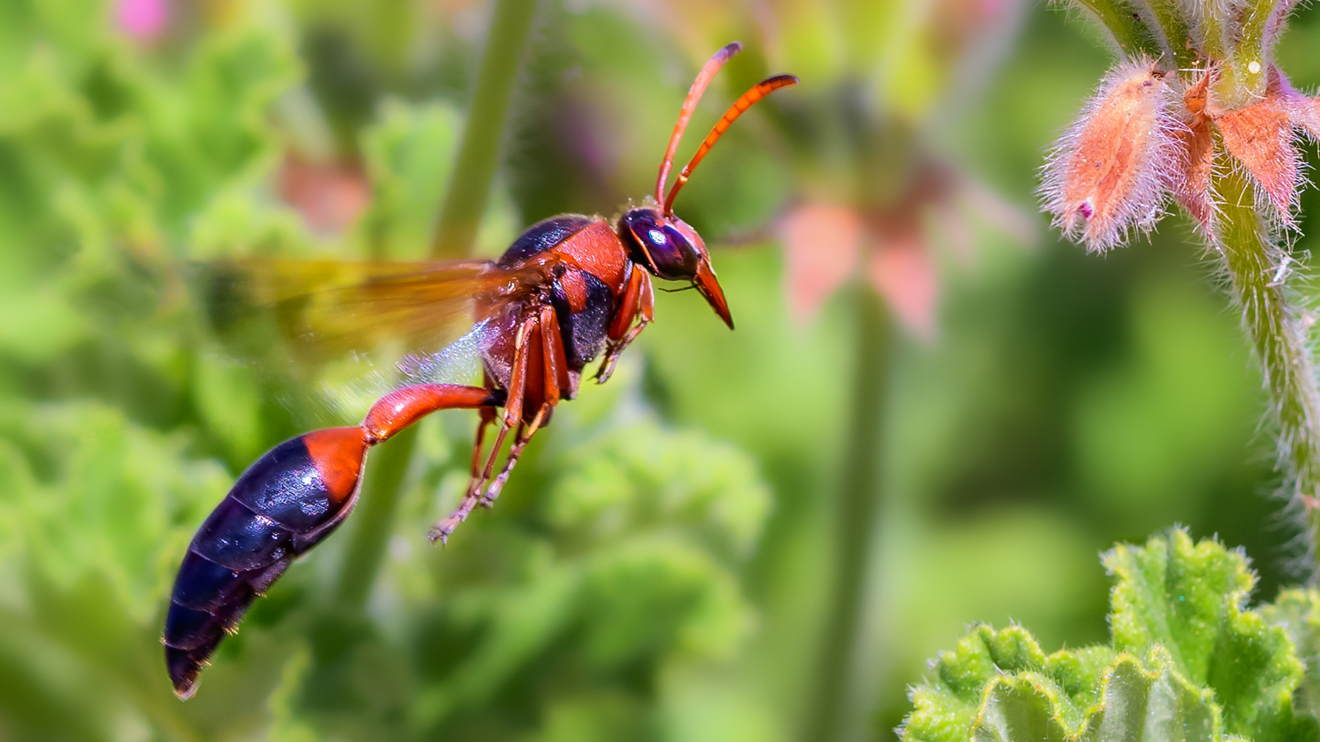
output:
POLYGON ((1176 95, 1148 61, 1123 62, 1101 81, 1044 168, 1053 224, 1105 251, 1160 215, 1175 161, 1176 95))

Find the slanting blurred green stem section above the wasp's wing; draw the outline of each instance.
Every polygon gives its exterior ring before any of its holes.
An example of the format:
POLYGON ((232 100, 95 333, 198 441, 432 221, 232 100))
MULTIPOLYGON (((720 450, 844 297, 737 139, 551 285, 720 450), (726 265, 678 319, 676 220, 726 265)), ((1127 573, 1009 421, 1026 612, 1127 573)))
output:
POLYGON ((473 250, 499 162, 513 82, 535 16, 536 0, 499 0, 495 4, 486 51, 477 73, 477 92, 467 110, 458 161, 449 178, 432 243, 430 251, 436 257, 465 257, 473 250))

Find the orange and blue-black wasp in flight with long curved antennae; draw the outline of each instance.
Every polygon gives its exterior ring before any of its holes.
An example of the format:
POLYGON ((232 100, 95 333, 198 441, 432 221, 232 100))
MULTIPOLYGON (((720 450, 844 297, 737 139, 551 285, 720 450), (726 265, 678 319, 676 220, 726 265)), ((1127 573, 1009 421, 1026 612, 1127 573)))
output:
MULTIPOLYGON (((478 504, 490 507, 528 441, 550 421, 554 405, 573 399, 582 370, 605 354, 605 383, 623 349, 652 320, 655 276, 688 281, 733 329, 725 293, 701 235, 673 214, 688 177, 730 124, 766 95, 797 83, 775 75, 752 86, 725 112, 665 194, 688 121, 715 73, 737 54, 725 46, 702 66, 678 111, 656 178, 655 198, 627 209, 612 224, 601 217, 565 214, 529 227, 492 261, 384 264, 371 279, 341 289, 342 302, 379 309, 407 325, 411 312, 445 297, 473 301, 484 384, 421 383, 380 397, 360 425, 290 438, 259 458, 202 523, 183 556, 165 618, 165 665, 174 693, 187 698, 197 675, 232 632, 252 601, 300 555, 317 545, 352 511, 367 449, 440 409, 480 413, 471 481, 458 508, 432 527, 445 541, 478 504), (498 432, 488 452, 486 434, 498 432), (495 463, 507 438, 508 454, 495 463)), ((288 268, 289 261, 284 261, 288 268)), ((277 263, 259 264, 275 269, 277 263)), ((429 314, 434 317, 434 313, 429 314)))

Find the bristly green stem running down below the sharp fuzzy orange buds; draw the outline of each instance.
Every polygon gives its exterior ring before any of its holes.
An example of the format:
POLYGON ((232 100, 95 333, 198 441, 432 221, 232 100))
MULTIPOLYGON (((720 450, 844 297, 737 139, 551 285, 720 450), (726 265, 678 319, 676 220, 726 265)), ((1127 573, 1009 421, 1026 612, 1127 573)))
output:
MULTIPOLYGON (((1222 152, 1222 149, 1220 149, 1222 152)), ((1278 469, 1295 504, 1307 514, 1308 562, 1317 573, 1320 533, 1320 388, 1311 359, 1307 313, 1288 288, 1292 259, 1271 238, 1246 176, 1216 162, 1214 187, 1224 201, 1214 244, 1228 269, 1233 298, 1261 359, 1271 413, 1279 425, 1278 469)))

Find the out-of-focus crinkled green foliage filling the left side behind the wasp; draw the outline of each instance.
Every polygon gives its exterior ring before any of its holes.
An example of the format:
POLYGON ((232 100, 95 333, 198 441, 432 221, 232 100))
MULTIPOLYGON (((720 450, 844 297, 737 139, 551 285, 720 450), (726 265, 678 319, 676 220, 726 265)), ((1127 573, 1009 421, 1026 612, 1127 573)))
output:
MULTIPOLYGON (((631 366, 556 416, 572 434, 529 453, 506 518, 445 551, 421 543, 473 421, 428 422, 378 515, 272 590, 197 698, 169 696, 158 636, 191 532, 260 450, 345 401, 226 355, 181 261, 416 257, 462 119, 380 92, 348 128, 375 198, 322 235, 272 193, 306 139, 301 29, 249 8, 148 50, 88 22, 107 12, 0 8, 0 738, 581 739, 690 716, 684 679, 755 624, 739 573, 770 495, 737 446, 628 413, 631 366)), ((494 180, 495 154, 477 160, 494 180)), ((495 201, 462 239, 494 224, 507 244, 495 201)))

